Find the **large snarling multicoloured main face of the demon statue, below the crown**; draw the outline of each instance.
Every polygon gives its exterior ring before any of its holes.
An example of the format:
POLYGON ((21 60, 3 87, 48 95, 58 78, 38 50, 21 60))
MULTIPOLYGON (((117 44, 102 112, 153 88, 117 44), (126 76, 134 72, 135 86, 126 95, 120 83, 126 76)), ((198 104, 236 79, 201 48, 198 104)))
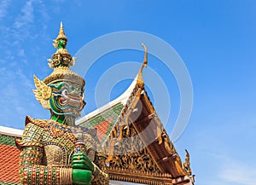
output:
POLYGON ((84 90, 79 84, 71 82, 56 82, 49 84, 52 95, 49 98, 49 107, 57 115, 80 116, 84 108, 84 90))

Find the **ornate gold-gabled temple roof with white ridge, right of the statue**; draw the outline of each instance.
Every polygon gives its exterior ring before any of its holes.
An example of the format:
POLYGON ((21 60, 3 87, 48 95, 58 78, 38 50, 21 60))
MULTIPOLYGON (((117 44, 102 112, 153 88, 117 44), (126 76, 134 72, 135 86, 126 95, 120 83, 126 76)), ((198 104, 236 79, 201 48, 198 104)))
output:
POLYGON ((122 95, 77 120, 76 124, 96 128, 97 136, 104 146, 105 153, 108 154, 110 179, 143 184, 193 184, 194 176, 191 176, 189 167, 189 153, 187 152, 183 164, 144 89, 142 69, 143 66, 122 95), (140 111, 137 111, 138 109, 140 111), (133 130, 132 136, 125 136, 127 129, 133 130), (137 141, 130 140, 134 137, 137 137, 137 141), (130 142, 122 143, 123 138, 130 142), (137 143, 144 147, 138 148, 137 151, 129 151, 128 154, 119 153, 127 152, 131 149, 129 145, 132 147, 137 143), (122 144, 124 146, 119 146, 122 144), (146 158, 149 164, 152 164, 149 166, 151 170, 138 170, 134 167, 137 164, 132 163, 116 165, 122 163, 124 158, 128 161, 137 161, 138 155, 148 156, 146 158))

